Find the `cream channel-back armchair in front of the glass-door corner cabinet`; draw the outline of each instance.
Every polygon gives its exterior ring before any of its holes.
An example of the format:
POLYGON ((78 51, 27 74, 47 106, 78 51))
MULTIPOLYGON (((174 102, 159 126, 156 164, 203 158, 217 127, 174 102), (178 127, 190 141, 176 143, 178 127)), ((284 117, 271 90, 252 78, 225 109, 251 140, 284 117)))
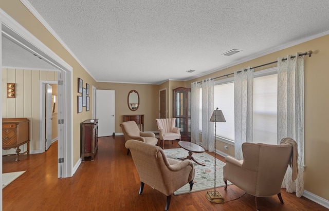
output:
MULTIPOLYGON (((165 140, 173 141, 179 139, 180 141, 180 128, 176 126, 176 118, 170 119, 156 119, 158 125, 160 141, 163 142, 163 149, 165 148, 165 140)), ((160 142, 160 146, 161 146, 160 142)))

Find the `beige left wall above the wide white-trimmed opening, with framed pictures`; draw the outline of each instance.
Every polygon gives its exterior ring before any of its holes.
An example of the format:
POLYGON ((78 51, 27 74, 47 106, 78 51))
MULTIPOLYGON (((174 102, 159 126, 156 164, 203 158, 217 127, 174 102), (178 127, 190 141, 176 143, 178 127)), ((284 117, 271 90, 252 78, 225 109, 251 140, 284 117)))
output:
MULTIPOLYGON (((44 43, 54 53, 61 57, 68 65, 72 67, 72 84, 73 84, 73 155, 72 163, 75 165, 80 160, 80 123, 93 117, 92 105, 90 110, 77 112, 78 78, 83 79, 83 87, 86 83, 90 89, 95 86, 95 80, 86 70, 74 59, 72 55, 49 33, 49 31, 30 13, 29 10, 19 0, 0 1, 0 8, 9 14, 15 21, 19 22, 25 29, 32 33, 37 39, 44 43)), ((39 86, 39 84, 38 84, 39 86)), ((90 93, 90 102, 93 102, 93 95, 90 93)), ((68 140, 70 141, 70 140, 68 140)))

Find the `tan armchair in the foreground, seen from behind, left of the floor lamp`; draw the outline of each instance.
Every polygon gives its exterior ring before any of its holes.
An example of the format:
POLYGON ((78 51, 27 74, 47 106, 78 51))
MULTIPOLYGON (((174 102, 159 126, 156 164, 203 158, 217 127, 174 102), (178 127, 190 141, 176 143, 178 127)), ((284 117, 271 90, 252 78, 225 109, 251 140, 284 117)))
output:
POLYGON ((144 183, 167 196, 166 210, 169 209, 171 195, 180 187, 190 183, 193 187, 195 170, 192 162, 167 158, 161 147, 145 144, 136 140, 128 140, 129 148, 139 174, 142 194, 144 183))

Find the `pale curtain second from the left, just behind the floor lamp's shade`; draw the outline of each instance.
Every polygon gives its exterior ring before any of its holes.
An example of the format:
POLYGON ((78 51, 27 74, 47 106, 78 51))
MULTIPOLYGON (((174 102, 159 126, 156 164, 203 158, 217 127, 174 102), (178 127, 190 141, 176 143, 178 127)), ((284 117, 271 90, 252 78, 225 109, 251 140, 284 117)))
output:
POLYGON ((202 147, 208 151, 214 151, 214 123, 210 117, 214 111, 214 81, 207 79, 202 81, 202 147))

